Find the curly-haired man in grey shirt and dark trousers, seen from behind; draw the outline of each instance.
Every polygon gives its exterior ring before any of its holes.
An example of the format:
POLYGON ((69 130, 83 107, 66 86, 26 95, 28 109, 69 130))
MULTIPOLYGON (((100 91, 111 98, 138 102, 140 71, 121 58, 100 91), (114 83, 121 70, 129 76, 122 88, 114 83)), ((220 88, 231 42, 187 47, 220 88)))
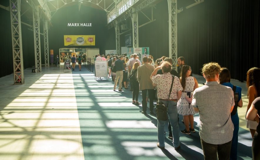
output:
POLYGON ((206 84, 195 89, 192 99, 194 110, 199 112, 199 135, 204 159, 229 159, 234 126, 230 113, 234 108, 234 94, 230 87, 218 84, 218 63, 203 65, 206 84))

